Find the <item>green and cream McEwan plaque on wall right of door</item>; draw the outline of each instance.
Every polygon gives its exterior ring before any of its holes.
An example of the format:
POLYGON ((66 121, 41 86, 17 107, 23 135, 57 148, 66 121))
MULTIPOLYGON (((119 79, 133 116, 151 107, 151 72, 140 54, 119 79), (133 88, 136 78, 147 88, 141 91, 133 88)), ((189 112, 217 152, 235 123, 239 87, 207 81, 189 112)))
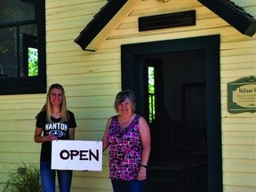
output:
POLYGON ((256 111, 256 77, 244 77, 228 83, 228 112, 256 111))

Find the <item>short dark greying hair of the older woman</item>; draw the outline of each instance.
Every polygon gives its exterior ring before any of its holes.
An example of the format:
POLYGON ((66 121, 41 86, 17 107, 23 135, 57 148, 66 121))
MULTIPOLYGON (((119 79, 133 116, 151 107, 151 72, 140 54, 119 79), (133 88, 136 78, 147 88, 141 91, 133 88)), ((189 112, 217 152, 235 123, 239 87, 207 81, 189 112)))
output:
POLYGON ((114 108, 115 108, 116 112, 118 112, 117 106, 120 103, 124 102, 124 100, 126 100, 126 99, 130 100, 130 102, 132 104, 133 112, 135 111, 135 109, 136 109, 135 95, 132 92, 132 90, 127 89, 127 90, 124 90, 122 92, 118 92, 116 94, 116 100, 115 100, 115 103, 114 103, 114 108))

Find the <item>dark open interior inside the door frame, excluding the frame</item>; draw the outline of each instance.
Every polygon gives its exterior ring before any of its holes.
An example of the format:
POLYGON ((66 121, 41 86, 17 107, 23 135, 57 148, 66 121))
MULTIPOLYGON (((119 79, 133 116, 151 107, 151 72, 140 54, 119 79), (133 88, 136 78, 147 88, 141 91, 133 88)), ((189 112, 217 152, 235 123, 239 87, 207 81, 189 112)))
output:
POLYGON ((204 50, 151 54, 143 65, 154 87, 148 191, 208 192, 204 50))

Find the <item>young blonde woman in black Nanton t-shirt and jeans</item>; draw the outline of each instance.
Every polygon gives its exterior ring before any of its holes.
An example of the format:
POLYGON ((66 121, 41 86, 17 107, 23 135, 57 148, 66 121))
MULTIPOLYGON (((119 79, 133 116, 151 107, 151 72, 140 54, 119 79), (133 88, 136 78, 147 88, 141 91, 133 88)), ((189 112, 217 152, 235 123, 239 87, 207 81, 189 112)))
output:
POLYGON ((52 84, 47 92, 46 102, 36 116, 34 140, 42 143, 40 156, 40 174, 44 192, 55 191, 55 174, 57 172, 60 192, 69 192, 72 171, 52 170, 52 140, 75 140, 76 119, 67 109, 64 88, 52 84))

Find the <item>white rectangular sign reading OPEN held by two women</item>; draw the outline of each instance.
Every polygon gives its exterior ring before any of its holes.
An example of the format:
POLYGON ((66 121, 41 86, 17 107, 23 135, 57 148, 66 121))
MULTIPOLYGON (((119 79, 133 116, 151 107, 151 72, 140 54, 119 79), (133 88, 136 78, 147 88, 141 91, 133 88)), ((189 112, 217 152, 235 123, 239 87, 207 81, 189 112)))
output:
POLYGON ((102 141, 52 140, 52 169, 102 171, 102 141))

